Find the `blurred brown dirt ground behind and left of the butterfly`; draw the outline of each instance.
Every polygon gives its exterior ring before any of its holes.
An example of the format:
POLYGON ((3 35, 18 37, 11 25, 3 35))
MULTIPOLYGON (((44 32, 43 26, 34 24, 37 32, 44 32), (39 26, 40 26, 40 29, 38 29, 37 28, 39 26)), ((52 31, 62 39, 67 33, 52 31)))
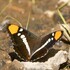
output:
MULTIPOLYGON (((26 28, 37 36, 44 36, 53 31, 59 30, 58 22, 58 0, 0 0, 0 24, 4 19, 9 19, 13 23, 26 28), (35 1, 35 2, 33 2, 35 1), (51 11, 51 13, 47 13, 51 11), (56 11, 56 12, 55 12, 56 11), (17 21, 16 21, 17 20, 17 21)), ((70 6, 65 6, 61 10, 66 22, 70 22, 70 6)), ((64 46, 70 46, 63 44, 64 46)), ((18 69, 9 56, 13 52, 12 43, 7 33, 0 31, 0 70, 22 70, 18 69)), ((64 67, 65 68, 65 67, 64 67)), ((64 70, 63 68, 63 70, 64 70)), ((69 67, 68 69, 69 70, 69 67)))

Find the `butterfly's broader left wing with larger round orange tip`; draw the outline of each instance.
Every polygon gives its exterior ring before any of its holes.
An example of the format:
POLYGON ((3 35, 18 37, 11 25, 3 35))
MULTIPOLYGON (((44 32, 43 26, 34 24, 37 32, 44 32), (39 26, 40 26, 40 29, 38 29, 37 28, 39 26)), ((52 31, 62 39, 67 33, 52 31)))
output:
POLYGON ((29 60, 31 56, 31 49, 37 41, 37 36, 31 32, 13 24, 7 26, 7 31, 14 43, 15 52, 24 60, 29 60))

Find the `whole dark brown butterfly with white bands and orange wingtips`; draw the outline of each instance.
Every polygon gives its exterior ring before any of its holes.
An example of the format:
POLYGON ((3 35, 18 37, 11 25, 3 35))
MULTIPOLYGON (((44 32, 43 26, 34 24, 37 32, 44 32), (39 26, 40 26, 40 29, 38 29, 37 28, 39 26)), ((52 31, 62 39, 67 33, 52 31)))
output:
POLYGON ((48 51, 63 35, 63 31, 58 30, 39 38, 15 24, 7 24, 7 31, 14 44, 15 52, 24 61, 39 61, 47 57, 48 51))

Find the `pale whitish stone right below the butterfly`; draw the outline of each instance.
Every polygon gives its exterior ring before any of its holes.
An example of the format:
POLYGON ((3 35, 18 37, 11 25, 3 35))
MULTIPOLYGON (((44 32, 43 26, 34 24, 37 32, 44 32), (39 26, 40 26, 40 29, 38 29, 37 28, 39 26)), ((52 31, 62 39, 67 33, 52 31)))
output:
POLYGON ((59 51, 46 62, 21 62, 24 70, 59 70, 60 64, 67 61, 68 53, 59 51))

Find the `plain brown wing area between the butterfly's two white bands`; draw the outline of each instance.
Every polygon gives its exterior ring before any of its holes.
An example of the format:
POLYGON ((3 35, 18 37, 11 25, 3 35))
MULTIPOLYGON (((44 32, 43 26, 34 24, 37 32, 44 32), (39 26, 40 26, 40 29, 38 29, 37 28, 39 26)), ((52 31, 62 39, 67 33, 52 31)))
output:
POLYGON ((27 38, 27 41, 30 46, 31 54, 32 54, 36 50, 36 48, 39 46, 41 39, 26 29, 24 29, 24 31, 22 32, 22 35, 23 34, 27 38))

